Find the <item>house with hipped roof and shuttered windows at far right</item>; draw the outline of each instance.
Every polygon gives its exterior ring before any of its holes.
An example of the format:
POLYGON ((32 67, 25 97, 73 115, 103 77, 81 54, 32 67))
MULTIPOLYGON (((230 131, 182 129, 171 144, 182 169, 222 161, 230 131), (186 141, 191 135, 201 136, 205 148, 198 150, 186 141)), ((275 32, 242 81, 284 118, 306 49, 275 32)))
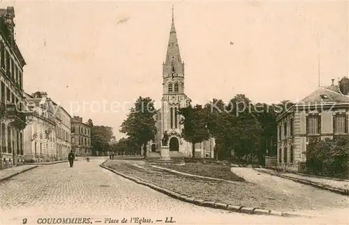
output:
POLYGON ((348 77, 343 77, 339 85, 332 79, 331 86, 317 88, 276 118, 279 168, 299 171, 306 162, 309 141, 348 134, 348 92, 348 77))

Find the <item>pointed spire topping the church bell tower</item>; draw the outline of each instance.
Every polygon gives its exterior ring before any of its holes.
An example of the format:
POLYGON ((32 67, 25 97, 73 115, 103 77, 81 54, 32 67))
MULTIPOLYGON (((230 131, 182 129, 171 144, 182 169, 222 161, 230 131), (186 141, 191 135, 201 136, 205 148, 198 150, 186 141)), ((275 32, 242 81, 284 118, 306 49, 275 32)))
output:
POLYGON ((166 54, 165 63, 181 63, 181 55, 179 54, 179 46, 177 40, 176 28, 174 26, 174 15, 172 6, 172 24, 170 30, 170 38, 168 40, 168 52, 166 54))

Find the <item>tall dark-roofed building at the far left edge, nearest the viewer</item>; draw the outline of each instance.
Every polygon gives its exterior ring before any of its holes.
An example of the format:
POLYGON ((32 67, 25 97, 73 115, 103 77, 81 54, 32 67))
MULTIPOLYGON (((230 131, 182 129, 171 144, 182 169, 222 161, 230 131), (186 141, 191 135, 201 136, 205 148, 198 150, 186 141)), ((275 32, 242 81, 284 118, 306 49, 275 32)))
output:
POLYGON ((24 162, 24 58, 15 42, 15 10, 0 9, 0 169, 24 162))

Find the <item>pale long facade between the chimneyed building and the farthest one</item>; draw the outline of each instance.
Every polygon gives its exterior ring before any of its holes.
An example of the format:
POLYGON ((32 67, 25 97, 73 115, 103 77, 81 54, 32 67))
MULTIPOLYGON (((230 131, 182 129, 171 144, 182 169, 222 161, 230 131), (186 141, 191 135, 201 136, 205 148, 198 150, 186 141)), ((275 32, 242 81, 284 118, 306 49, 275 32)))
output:
POLYGON ((71 150, 70 120, 71 116, 66 109, 50 101, 50 107, 55 112, 56 118, 56 151, 57 160, 68 159, 71 150))

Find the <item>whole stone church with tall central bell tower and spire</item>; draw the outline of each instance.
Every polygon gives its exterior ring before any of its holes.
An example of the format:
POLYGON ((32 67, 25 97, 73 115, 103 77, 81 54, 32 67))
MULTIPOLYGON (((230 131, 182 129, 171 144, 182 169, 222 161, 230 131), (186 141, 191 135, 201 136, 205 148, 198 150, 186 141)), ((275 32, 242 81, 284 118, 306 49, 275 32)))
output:
MULTIPOLYGON (((184 61, 181 61, 177 32, 174 26, 172 8, 172 23, 168 49, 163 62, 163 96, 161 109, 158 109, 154 119, 158 133, 149 142, 149 156, 158 157, 162 146, 168 146, 170 157, 192 157, 192 144, 181 137, 183 125, 179 122, 178 109, 187 107, 191 99, 184 92, 184 61), (163 138, 168 139, 163 143, 163 138)), ((195 144, 195 158, 214 157, 214 139, 195 144)))

